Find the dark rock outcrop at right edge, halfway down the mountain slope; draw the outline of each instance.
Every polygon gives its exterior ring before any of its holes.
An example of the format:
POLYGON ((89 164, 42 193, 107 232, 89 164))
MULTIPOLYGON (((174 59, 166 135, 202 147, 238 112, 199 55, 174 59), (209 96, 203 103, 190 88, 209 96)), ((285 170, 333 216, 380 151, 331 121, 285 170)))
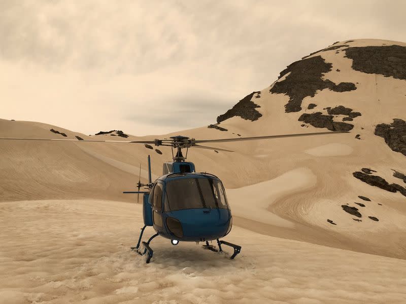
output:
POLYGON ((390 125, 377 125, 375 135, 383 137, 393 151, 406 156, 406 122, 404 120, 395 118, 390 125))

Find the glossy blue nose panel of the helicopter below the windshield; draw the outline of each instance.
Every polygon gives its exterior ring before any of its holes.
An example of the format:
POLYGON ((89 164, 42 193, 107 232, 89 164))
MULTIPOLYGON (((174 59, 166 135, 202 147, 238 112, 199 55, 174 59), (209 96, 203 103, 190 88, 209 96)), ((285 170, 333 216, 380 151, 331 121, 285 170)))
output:
POLYGON ((186 209, 171 212, 182 225, 185 241, 214 240, 224 236, 230 215, 226 209, 186 209))

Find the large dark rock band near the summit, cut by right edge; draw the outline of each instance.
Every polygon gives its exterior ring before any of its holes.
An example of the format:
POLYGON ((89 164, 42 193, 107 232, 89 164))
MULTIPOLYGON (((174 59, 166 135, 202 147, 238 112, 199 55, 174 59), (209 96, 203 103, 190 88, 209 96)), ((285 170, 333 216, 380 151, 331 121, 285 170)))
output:
POLYGON ((350 47, 345 52, 346 57, 353 60, 352 68, 357 71, 406 80, 406 47, 350 47))

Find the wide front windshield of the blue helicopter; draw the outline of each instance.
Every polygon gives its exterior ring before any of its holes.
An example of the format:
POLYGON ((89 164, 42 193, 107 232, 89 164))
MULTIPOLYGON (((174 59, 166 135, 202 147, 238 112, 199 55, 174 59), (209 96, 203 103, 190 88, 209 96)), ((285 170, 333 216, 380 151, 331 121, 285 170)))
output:
POLYGON ((180 178, 167 181, 165 210, 194 208, 227 209, 221 181, 210 177, 180 178))

